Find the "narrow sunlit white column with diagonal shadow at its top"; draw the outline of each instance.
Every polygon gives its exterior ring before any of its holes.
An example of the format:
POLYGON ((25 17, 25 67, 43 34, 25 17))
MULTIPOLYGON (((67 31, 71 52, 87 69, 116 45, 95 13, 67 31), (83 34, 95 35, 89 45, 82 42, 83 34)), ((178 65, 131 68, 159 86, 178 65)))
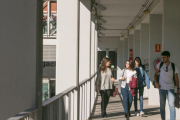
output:
POLYGON ((80 58, 79 81, 89 78, 91 1, 80 0, 80 58))

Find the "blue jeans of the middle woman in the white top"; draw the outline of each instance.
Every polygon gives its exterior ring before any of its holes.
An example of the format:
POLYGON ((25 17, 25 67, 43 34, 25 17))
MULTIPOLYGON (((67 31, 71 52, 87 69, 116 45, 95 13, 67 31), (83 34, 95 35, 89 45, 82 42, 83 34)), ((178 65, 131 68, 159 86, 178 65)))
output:
POLYGON ((128 112, 130 112, 132 101, 133 101, 133 96, 132 96, 131 92, 129 91, 128 84, 126 84, 125 88, 121 87, 121 94, 123 96, 124 112, 128 113, 128 112))

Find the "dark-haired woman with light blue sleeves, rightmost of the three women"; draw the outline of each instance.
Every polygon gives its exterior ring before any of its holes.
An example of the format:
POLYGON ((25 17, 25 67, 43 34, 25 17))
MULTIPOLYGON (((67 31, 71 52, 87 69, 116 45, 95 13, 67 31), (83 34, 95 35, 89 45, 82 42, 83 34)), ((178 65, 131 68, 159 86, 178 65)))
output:
POLYGON ((143 112, 143 94, 144 94, 144 87, 147 86, 147 89, 150 88, 150 80, 147 75, 145 67, 142 65, 141 59, 136 57, 134 59, 135 63, 135 70, 137 72, 137 79, 138 79, 138 88, 135 89, 135 96, 134 96, 134 108, 135 108, 135 116, 144 116, 143 112), (138 113, 137 109, 137 93, 139 91, 139 102, 140 102, 140 112, 138 113))

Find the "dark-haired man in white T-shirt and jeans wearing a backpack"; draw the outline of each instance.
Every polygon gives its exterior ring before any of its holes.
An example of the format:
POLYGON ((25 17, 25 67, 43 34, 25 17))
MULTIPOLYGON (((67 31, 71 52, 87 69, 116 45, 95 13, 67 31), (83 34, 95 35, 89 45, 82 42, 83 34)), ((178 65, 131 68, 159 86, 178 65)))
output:
POLYGON ((166 96, 168 98, 170 109, 170 120, 176 119, 176 109, 174 105, 175 101, 175 85, 177 86, 177 93, 179 93, 179 78, 178 69, 174 63, 170 62, 169 51, 161 53, 162 62, 156 66, 156 72, 154 74, 155 86, 159 89, 160 96, 160 113, 161 119, 165 120, 165 106, 166 96), (158 74, 160 77, 158 79, 158 74))

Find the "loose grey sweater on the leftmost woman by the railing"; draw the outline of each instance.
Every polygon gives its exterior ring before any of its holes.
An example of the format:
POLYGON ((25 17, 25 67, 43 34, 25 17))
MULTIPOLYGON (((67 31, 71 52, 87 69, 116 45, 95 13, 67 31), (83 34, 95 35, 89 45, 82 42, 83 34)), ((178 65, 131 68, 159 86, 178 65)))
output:
POLYGON ((110 68, 107 68, 107 71, 104 73, 100 70, 98 71, 95 82, 95 85, 98 86, 98 91, 112 89, 111 77, 112 77, 112 71, 110 68))

